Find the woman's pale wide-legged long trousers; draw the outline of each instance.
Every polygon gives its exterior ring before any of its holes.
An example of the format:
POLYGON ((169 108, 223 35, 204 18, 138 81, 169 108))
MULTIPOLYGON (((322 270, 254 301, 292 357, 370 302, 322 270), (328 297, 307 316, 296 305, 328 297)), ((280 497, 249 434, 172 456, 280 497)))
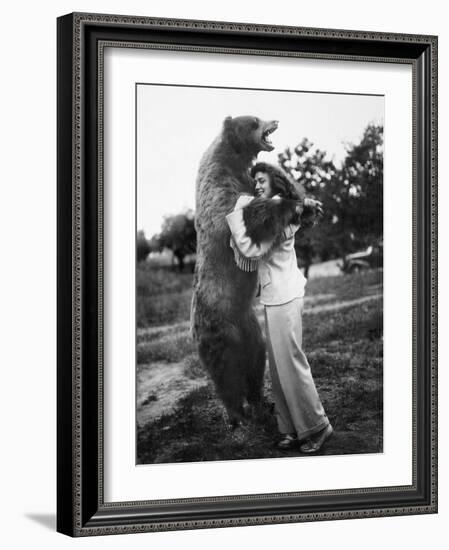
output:
POLYGON ((304 298, 265 306, 268 361, 280 433, 305 439, 329 424, 302 350, 304 298))

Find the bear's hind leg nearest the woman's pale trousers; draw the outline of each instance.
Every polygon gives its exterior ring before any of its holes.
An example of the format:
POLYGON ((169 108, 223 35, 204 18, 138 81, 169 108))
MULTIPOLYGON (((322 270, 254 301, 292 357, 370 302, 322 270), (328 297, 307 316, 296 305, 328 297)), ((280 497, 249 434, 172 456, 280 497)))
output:
POLYGON ((263 412, 263 380, 265 373, 265 341, 254 312, 251 312, 246 326, 246 399, 253 418, 259 418, 263 412))

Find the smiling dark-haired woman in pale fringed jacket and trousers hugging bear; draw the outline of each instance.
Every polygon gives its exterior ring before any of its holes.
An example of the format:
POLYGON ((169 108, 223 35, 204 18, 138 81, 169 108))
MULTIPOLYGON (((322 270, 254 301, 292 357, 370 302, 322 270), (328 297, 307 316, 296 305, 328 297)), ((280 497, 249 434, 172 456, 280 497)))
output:
MULTIPOLYGON (((278 447, 290 449, 299 442, 301 452, 316 453, 333 430, 302 350, 306 279, 298 268, 294 248, 302 201, 287 175, 275 166, 257 163, 251 176, 258 197, 298 200, 298 219, 274 241, 258 243, 248 235, 243 210, 254 199, 252 196, 241 195, 226 218, 237 265, 259 272, 275 412, 282 434, 278 447)), ((305 199, 304 203, 320 209, 318 201, 305 199)))

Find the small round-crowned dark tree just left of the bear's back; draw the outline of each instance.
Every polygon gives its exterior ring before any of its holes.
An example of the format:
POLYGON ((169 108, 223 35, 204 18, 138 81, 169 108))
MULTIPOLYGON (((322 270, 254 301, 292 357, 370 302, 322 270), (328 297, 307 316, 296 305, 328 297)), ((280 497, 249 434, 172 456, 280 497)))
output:
POLYGON ((158 241, 162 248, 169 248, 173 252, 178 260, 179 270, 182 271, 185 257, 196 251, 193 211, 187 210, 185 213, 165 216, 158 241))

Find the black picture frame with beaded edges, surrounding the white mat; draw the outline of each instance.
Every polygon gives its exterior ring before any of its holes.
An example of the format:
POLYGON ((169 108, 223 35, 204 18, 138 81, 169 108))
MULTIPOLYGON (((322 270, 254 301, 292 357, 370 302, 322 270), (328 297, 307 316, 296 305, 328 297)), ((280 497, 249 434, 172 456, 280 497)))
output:
POLYGON ((74 13, 58 18, 57 530, 70 536, 437 512, 437 37, 74 13), (102 44, 413 69, 413 483, 105 503, 102 44))

